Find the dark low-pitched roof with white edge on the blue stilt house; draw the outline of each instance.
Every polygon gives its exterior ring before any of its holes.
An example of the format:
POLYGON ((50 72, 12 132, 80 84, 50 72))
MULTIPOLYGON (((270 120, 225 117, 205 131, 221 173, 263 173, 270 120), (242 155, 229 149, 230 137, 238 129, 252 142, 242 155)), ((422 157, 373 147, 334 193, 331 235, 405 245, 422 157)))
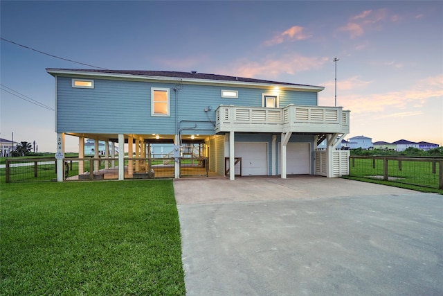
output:
POLYGON ((98 70, 98 69, 56 69, 46 68, 51 75, 56 74, 83 74, 91 76, 114 76, 114 77, 137 77, 146 79, 171 78, 173 80, 181 79, 183 81, 213 81, 213 82, 231 82, 235 84, 264 84, 264 85, 285 85, 287 87, 298 87, 306 89, 315 89, 318 92, 325 89, 316 85, 301 85, 289 82, 280 82, 273 80, 262 80, 255 78, 244 78, 238 76, 226 76, 209 73, 198 73, 197 71, 179 72, 179 71, 141 71, 141 70, 98 70))

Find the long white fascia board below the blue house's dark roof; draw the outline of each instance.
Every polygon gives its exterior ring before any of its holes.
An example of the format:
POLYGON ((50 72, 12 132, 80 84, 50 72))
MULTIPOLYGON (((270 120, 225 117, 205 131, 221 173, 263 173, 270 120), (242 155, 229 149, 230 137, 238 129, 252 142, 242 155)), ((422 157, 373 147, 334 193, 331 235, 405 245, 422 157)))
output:
POLYGON ((154 81, 168 81, 168 82, 186 82, 189 84, 198 85, 230 85, 237 87, 281 87, 283 89, 298 89, 311 92, 321 92, 325 87, 309 86, 309 85, 285 85, 278 83, 260 83, 260 82, 242 82, 242 81, 228 81, 228 80, 211 80, 211 79, 196 79, 196 78, 179 78, 168 76, 143 76, 132 75, 123 73, 100 73, 89 71, 72 71, 63 69, 46 69, 46 71, 53 75, 69 75, 69 76, 89 76, 89 77, 102 77, 102 78, 123 78, 128 80, 154 80, 154 81))

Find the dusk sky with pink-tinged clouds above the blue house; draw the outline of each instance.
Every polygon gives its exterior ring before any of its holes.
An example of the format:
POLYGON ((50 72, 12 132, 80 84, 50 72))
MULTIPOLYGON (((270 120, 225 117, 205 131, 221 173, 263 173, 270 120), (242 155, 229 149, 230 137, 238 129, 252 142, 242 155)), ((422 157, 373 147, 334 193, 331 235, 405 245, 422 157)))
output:
MULTIPOLYGON (((339 58, 337 105, 351 110, 345 139, 443 143, 443 1, 0 5, 1 37, 37 51, 106 69, 319 85, 323 106, 334 106, 333 60, 339 58)), ((1 40, 0 137, 11 139, 13 132, 14 141, 55 152, 55 81, 45 68, 91 67, 37 51, 1 40)), ((76 137, 66 137, 71 151, 78 152, 76 137)))

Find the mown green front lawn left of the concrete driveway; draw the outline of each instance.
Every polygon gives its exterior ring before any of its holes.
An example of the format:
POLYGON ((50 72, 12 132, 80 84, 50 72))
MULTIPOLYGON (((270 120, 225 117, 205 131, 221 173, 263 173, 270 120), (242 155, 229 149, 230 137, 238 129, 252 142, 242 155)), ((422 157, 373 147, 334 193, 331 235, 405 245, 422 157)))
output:
POLYGON ((1 295, 185 295, 171 180, 3 181, 0 223, 1 295))

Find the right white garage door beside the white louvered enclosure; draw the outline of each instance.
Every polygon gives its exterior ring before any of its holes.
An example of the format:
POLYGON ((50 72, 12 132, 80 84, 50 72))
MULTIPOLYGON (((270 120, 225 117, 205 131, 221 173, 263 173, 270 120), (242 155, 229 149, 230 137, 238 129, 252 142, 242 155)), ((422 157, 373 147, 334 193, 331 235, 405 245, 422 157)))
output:
MULTIPOLYGON (((287 175, 300 175, 311 173, 311 153, 309 143, 288 143, 286 146, 286 173, 287 175)), ((280 147, 280 164, 282 153, 280 147)), ((282 166, 279 166, 280 174, 282 166)))

